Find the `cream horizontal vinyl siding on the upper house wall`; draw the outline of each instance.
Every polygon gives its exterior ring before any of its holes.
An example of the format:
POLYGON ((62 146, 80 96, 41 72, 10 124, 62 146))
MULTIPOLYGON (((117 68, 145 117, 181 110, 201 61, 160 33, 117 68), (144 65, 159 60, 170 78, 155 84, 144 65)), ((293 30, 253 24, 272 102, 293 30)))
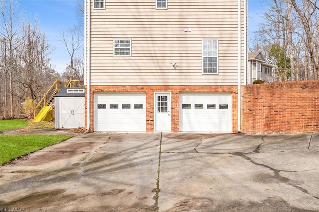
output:
MULTIPOLYGON (((237 0, 169 0, 168 10, 155 9, 155 0, 123 2, 91 10, 91 85, 238 85, 237 0), (114 57, 116 38, 132 39, 125 62, 114 57), (218 39, 218 74, 203 74, 202 40, 211 38, 218 39)), ((243 57, 241 64, 243 78, 243 57)))

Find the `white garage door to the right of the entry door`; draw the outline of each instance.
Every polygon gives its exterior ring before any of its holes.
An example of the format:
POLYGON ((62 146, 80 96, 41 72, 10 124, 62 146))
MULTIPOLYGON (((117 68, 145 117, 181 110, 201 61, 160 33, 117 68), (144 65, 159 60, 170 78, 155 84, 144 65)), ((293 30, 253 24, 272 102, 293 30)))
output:
POLYGON ((231 132, 231 93, 181 93, 179 130, 231 132))

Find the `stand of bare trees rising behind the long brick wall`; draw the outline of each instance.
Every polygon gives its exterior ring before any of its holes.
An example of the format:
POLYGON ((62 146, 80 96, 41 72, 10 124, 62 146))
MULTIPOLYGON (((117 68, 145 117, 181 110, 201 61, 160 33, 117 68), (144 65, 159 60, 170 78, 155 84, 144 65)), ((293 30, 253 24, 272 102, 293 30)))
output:
POLYGON ((263 14, 264 23, 255 32, 255 43, 265 55, 275 47, 275 55, 282 57, 269 61, 274 65, 281 61, 282 67, 276 69, 279 81, 319 78, 318 13, 318 0, 299 4, 295 0, 269 1, 263 14))

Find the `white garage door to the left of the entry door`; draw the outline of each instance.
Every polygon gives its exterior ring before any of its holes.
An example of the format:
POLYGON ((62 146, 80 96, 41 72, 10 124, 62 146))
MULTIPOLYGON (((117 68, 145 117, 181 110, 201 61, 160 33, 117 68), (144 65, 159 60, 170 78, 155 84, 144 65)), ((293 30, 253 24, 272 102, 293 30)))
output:
POLYGON ((94 131, 145 132, 145 93, 95 93, 94 131))

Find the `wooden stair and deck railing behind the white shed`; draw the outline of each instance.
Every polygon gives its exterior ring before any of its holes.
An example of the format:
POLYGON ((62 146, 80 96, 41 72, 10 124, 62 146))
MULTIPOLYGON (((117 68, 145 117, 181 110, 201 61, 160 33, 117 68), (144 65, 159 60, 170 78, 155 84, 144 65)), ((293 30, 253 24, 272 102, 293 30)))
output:
POLYGON ((83 87, 84 86, 84 80, 73 80, 70 79, 69 82, 66 81, 60 81, 57 78, 55 78, 54 83, 51 85, 51 87, 48 89, 46 93, 44 93, 43 98, 40 100, 40 102, 35 106, 34 109, 34 118, 36 115, 40 112, 43 106, 49 106, 56 93, 60 91, 63 87, 83 87))

